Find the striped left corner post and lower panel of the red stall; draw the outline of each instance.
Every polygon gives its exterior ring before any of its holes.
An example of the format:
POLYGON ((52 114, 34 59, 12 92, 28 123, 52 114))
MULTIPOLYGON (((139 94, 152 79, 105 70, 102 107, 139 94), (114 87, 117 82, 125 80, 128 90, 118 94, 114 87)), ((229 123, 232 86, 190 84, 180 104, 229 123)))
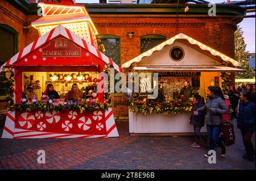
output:
MULTIPOLYGON (((16 70, 14 71, 14 75, 16 74, 16 70)), ((16 80, 15 80, 16 82, 16 80)), ((16 103, 16 84, 11 87, 13 89, 13 100, 14 104, 16 103)), ((2 138, 13 138, 14 137, 14 129, 15 129, 15 114, 16 111, 8 111, 6 113, 6 120, 5 120, 5 128, 3 128, 2 138)))

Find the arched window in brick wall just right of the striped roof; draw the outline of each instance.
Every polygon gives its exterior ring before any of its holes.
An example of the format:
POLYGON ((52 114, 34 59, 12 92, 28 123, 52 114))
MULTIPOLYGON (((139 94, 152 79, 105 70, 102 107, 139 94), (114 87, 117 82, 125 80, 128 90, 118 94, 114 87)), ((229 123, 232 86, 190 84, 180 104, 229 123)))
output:
POLYGON ((97 36, 98 45, 102 53, 111 58, 117 65, 121 65, 120 37, 114 35, 97 36), (102 47, 104 46, 104 48, 102 47))

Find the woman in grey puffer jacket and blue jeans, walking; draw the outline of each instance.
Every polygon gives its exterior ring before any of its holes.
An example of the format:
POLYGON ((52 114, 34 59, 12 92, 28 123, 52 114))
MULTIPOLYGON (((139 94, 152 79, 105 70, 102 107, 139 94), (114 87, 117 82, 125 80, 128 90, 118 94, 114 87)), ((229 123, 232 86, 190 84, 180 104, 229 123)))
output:
MULTIPOLYGON (((194 111, 195 114, 198 112, 205 112, 205 123, 207 124, 208 140, 210 150, 215 150, 215 144, 218 144, 221 148, 221 157, 226 155, 226 147, 220 140, 220 124, 221 116, 229 112, 228 106, 225 100, 221 99, 218 95, 218 89, 214 86, 209 86, 207 89, 207 102, 205 106, 194 111)), ((205 154, 204 157, 210 157, 209 154, 205 154)))

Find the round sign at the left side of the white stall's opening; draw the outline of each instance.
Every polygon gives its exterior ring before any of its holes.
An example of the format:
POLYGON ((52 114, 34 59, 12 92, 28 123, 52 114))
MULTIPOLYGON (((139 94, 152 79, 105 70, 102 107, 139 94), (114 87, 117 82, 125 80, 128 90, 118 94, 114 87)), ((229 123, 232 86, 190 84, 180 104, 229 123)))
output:
POLYGON ((135 100, 141 94, 141 90, 139 89, 139 84, 134 81, 127 81, 122 86, 122 92, 123 92, 123 95, 128 100, 135 100))

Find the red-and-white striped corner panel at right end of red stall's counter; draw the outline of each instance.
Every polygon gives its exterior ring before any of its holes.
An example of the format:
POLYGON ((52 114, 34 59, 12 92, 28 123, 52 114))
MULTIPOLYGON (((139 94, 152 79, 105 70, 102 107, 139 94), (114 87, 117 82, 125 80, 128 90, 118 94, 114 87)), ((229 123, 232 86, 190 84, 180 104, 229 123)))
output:
POLYGON ((108 110, 105 111, 105 119, 106 132, 108 137, 119 137, 117 125, 115 124, 114 115, 111 107, 109 107, 108 110))

